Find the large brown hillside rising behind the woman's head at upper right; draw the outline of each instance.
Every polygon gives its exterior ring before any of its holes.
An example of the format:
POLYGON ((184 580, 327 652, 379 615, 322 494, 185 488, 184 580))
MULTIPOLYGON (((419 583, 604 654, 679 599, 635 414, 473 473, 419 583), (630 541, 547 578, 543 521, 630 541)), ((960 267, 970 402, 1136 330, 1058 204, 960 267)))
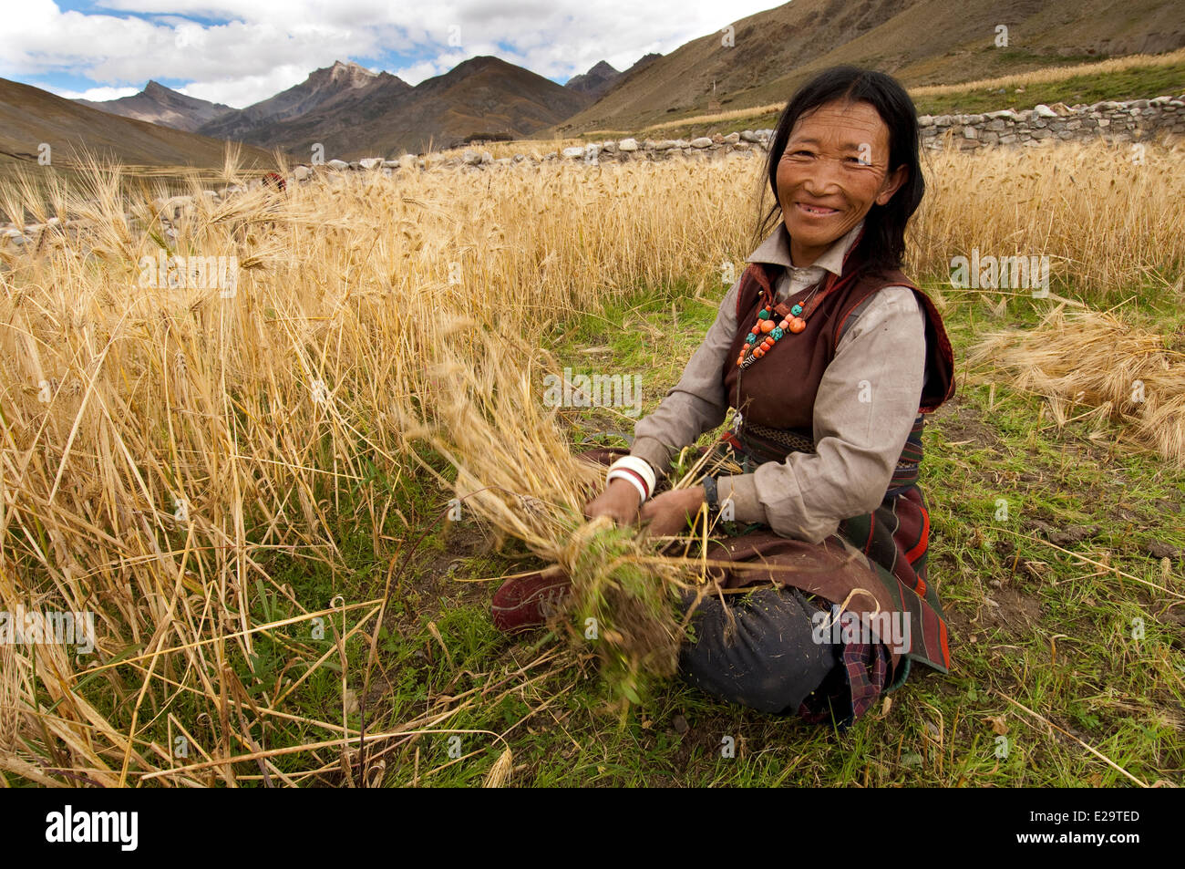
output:
POLYGON ((638 130, 702 114, 713 82, 724 110, 784 103, 809 76, 841 63, 916 87, 1181 45, 1177 0, 793 0, 627 71, 543 134, 638 130), (1001 25, 1006 46, 995 45, 1001 25))

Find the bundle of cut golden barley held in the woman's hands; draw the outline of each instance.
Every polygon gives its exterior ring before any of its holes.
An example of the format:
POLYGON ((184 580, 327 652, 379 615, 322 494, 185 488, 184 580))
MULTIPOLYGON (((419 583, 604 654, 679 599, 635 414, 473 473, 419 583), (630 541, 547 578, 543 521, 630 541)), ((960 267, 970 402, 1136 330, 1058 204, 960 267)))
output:
POLYGON ((597 654, 614 694, 640 702, 648 682, 674 673, 684 638, 679 594, 703 576, 691 561, 660 556, 659 542, 638 528, 584 519, 604 469, 572 454, 557 411, 542 405, 544 376, 555 369, 546 353, 511 336, 468 352, 468 364, 430 372, 450 396, 437 404, 436 424, 408 432, 456 468, 462 515, 476 513, 571 576, 574 598, 557 628, 597 654))

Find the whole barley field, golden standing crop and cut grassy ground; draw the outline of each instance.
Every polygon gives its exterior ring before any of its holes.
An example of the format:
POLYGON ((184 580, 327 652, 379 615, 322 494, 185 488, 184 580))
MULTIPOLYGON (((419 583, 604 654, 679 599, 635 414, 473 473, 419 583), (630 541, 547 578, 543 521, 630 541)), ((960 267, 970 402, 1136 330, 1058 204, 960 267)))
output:
POLYGON ((755 245, 757 159, 194 178, 168 228, 117 167, 7 184, 69 225, 0 247, 0 608, 95 645, 0 644, 0 781, 1180 784, 1185 153, 927 160, 955 664, 845 733, 671 678, 702 541, 584 522, 575 454, 634 420, 543 401, 568 366, 658 404, 755 245), (1048 256, 1048 294, 952 286, 973 250, 1048 256), (557 562, 569 618, 499 635, 499 577, 557 562))

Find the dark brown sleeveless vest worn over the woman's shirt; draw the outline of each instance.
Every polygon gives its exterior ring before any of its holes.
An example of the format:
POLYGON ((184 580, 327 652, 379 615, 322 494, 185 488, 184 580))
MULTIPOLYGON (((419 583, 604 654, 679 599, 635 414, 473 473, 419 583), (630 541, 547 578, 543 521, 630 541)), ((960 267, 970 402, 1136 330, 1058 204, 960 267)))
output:
MULTIPOLYGON (((918 402, 918 413, 930 413, 954 395, 954 352, 934 302, 901 271, 870 274, 865 270, 857 274, 854 264, 850 251, 844 261, 844 274, 837 277, 828 271, 825 285, 815 293, 812 300, 814 309, 808 307, 806 311, 806 328, 798 334, 787 332, 764 357, 742 372, 737 357, 745 336, 757 322, 757 313, 773 301, 773 288, 783 267, 754 262, 745 269, 737 293, 737 333, 722 371, 729 404, 741 411, 744 423, 800 429, 809 437, 815 395, 824 371, 835 357, 844 321, 861 301, 884 287, 909 287, 925 309, 928 379, 918 402)), ((780 321, 782 318, 779 314, 788 317, 790 306, 806 299, 811 289, 808 287, 775 306, 774 319, 780 321)))

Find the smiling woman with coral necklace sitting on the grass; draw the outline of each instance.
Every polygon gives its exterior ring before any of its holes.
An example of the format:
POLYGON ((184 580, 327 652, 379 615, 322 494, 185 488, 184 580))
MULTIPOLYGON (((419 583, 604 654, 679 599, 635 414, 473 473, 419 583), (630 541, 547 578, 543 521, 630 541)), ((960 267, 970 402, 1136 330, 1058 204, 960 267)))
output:
MULTIPOLYGON (((749 267, 629 455, 587 454, 610 469, 585 515, 672 535, 706 505, 722 520, 707 558, 737 566, 710 573, 752 593, 699 606, 683 677, 847 724, 912 662, 950 663, 917 475, 924 414, 954 394, 954 359, 934 305, 899 270, 924 192, 914 106, 890 76, 827 70, 790 98, 766 172, 775 204, 749 267), (662 491, 672 454, 730 408, 712 449, 744 473, 662 491)), ((495 622, 539 624, 565 583, 555 569, 511 580, 495 622)))

